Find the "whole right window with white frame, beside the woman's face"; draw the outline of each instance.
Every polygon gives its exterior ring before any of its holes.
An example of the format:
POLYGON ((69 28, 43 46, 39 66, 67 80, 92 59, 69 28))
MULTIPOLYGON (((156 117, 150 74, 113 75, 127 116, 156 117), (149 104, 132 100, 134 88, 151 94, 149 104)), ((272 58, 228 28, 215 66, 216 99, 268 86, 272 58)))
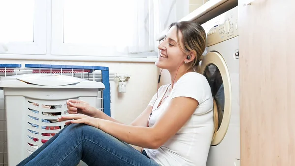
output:
POLYGON ((153 0, 53 0, 52 11, 54 55, 155 52, 153 0))

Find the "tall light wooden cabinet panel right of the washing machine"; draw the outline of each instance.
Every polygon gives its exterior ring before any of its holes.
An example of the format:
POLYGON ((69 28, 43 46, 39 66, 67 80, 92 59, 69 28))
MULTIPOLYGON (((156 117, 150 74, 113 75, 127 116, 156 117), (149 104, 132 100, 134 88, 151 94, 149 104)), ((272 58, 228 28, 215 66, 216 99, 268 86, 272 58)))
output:
POLYGON ((241 166, 295 166, 295 0, 239 0, 241 166))

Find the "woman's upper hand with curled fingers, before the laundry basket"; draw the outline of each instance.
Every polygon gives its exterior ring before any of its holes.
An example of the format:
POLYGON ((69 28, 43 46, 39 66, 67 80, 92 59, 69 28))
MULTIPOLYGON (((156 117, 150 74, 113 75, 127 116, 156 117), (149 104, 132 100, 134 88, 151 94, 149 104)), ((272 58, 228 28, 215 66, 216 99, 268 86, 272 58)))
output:
POLYGON ((89 103, 81 100, 69 99, 66 101, 66 105, 69 114, 84 114, 94 117, 99 112, 99 110, 90 106, 89 103))

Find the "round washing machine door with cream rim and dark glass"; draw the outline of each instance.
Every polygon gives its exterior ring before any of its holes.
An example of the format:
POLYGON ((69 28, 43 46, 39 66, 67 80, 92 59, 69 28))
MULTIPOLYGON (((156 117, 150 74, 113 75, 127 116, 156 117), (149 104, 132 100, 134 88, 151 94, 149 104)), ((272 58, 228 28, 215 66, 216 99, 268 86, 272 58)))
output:
POLYGON ((218 108, 219 127, 211 145, 218 145, 224 138, 231 117, 231 85, 230 75, 223 57, 215 51, 203 55, 200 71, 211 87, 213 98, 218 108))

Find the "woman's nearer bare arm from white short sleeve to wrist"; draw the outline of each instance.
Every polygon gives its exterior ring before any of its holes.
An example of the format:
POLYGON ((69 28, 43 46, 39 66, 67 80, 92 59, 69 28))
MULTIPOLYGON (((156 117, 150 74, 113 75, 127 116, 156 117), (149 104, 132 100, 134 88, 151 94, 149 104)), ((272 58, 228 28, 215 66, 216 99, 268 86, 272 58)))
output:
POLYGON ((106 120, 99 120, 98 128, 126 143, 157 149, 189 120, 198 104, 197 100, 189 97, 173 98, 163 116, 151 128, 106 120))

